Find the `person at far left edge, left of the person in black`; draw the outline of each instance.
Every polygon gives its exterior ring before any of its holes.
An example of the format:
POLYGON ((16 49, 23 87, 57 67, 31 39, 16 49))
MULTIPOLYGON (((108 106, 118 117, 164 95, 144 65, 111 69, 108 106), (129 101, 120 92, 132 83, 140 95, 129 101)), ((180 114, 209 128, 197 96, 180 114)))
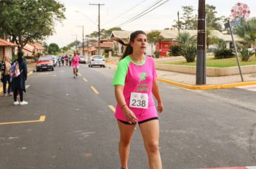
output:
POLYGON ((9 74, 9 69, 12 67, 9 57, 4 57, 3 62, 1 63, 1 82, 3 82, 3 90, 4 90, 4 96, 11 96, 12 92, 12 82, 11 82, 11 76, 9 74), (8 95, 6 93, 6 85, 8 82, 8 95))

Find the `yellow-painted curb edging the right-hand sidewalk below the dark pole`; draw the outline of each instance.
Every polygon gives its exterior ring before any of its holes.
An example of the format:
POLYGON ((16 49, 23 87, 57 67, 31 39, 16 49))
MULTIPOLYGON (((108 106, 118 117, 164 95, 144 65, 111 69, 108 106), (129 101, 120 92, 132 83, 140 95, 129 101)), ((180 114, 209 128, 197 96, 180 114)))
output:
POLYGON ((160 77, 157 77, 157 80, 160 82, 165 82, 167 84, 172 84, 178 87, 183 87, 189 90, 216 90, 216 89, 226 89, 226 88, 256 84, 256 81, 250 81, 250 82, 237 82, 237 83, 216 84, 216 85, 189 85, 189 84, 183 84, 180 82, 174 82, 168 79, 163 79, 160 77))

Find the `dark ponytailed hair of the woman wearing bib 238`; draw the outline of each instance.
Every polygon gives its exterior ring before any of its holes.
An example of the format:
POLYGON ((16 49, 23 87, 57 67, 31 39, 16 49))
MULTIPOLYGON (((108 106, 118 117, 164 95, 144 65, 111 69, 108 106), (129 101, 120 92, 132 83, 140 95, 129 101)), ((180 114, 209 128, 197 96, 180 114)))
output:
POLYGON ((112 37, 111 39, 113 39, 114 41, 116 42, 119 42, 120 44, 124 45, 124 46, 127 46, 127 48, 125 49, 124 51, 124 54, 122 55, 121 59, 124 59, 124 57, 127 57, 129 54, 132 54, 133 52, 133 49, 132 49, 132 45, 131 45, 131 42, 134 42, 134 39, 139 35, 139 34, 145 34, 147 36, 147 34, 143 31, 135 31, 135 32, 132 32, 132 34, 129 36, 129 43, 126 44, 124 43, 124 41, 122 41, 122 39, 119 39, 117 37, 112 37))

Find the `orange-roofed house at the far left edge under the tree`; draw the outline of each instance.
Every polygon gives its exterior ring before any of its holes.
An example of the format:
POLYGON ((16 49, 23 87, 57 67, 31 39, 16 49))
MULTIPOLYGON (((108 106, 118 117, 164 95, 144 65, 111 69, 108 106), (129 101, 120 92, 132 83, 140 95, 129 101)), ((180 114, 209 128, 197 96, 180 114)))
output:
POLYGON ((3 59, 4 57, 9 57, 12 59, 12 56, 14 55, 14 47, 18 47, 18 45, 0 39, 0 58, 3 59))

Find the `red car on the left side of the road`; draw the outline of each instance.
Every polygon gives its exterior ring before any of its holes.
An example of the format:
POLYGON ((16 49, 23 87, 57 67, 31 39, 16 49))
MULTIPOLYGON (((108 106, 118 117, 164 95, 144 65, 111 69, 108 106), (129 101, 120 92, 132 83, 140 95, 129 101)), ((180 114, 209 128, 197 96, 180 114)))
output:
POLYGON ((37 61, 37 72, 45 69, 51 69, 54 70, 54 63, 51 56, 42 56, 37 61))

